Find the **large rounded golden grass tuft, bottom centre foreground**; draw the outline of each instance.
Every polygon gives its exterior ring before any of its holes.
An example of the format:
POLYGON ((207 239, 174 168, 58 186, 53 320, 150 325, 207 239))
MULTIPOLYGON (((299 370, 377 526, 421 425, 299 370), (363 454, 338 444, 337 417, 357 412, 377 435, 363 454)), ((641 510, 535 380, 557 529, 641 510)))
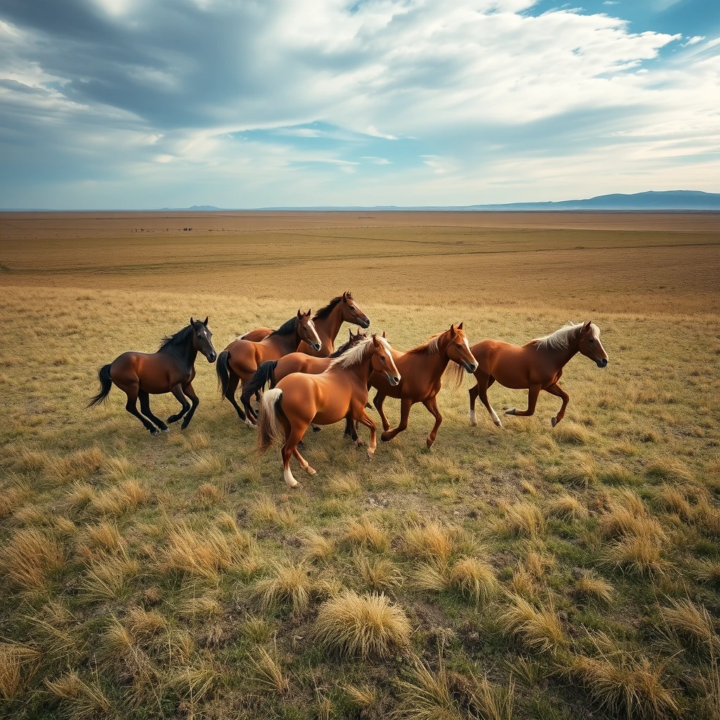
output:
POLYGON ((326 600, 315 620, 315 639, 328 649, 359 657, 389 657, 410 644, 413 628, 386 595, 351 590, 326 600))

